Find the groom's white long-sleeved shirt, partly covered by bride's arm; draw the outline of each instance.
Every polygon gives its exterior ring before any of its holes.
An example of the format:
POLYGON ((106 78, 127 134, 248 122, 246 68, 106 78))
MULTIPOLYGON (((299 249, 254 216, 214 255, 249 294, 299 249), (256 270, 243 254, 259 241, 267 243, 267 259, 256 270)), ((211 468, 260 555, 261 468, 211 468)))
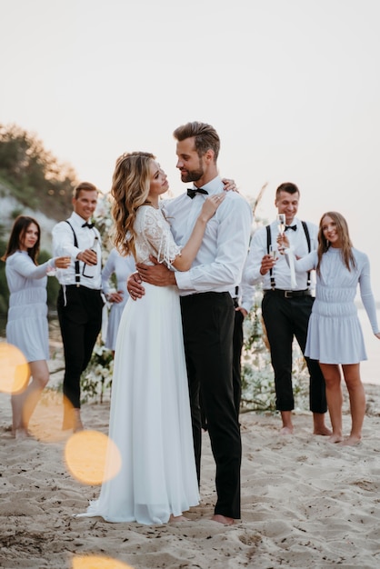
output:
MULTIPOLYGON (((202 187, 209 195, 224 191, 219 176, 202 187)), ((185 245, 190 237, 205 197, 196 194, 191 199, 183 194, 163 202, 163 212, 177 245, 185 245)), ((251 226, 252 211, 248 202, 236 192, 227 192, 224 202, 206 225, 192 268, 175 272, 179 294, 225 293, 240 284, 251 226)))

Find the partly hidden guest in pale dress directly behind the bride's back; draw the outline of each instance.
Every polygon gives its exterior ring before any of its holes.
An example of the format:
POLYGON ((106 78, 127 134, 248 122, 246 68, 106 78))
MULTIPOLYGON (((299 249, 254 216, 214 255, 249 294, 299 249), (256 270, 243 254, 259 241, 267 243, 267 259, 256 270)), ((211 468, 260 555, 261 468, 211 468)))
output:
POLYGON ((107 332, 105 337, 105 347, 115 352, 117 330, 126 301, 129 298, 126 290, 126 279, 135 271, 134 255, 120 255, 115 247, 108 255, 105 266, 102 270, 102 290, 111 308, 108 314, 107 332), (110 279, 115 275, 116 291, 111 290, 110 279))

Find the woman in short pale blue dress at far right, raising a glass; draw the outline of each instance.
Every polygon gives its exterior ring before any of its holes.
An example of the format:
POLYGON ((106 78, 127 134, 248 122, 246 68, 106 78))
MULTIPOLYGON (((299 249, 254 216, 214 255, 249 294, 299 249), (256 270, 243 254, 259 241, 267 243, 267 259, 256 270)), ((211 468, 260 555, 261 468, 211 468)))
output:
POLYGON ((289 249, 287 235, 279 238, 280 246, 295 263, 299 272, 316 270, 315 303, 310 316, 305 355, 318 360, 325 376, 328 411, 333 434, 332 443, 353 445, 362 438, 365 418, 365 389, 360 379, 360 362, 367 359, 362 328, 357 316, 357 286, 372 330, 380 339, 375 298, 371 290, 370 264, 367 255, 354 248, 345 217, 337 212, 322 215, 318 232, 318 249, 302 259, 289 249), (347 386, 352 418, 351 433, 343 437, 341 374, 347 386))

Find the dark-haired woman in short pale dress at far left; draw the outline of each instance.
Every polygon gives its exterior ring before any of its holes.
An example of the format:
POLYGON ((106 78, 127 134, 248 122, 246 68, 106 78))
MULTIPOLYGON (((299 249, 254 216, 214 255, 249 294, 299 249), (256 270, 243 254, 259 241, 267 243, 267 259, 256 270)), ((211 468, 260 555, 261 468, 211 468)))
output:
POLYGON ((55 267, 65 269, 67 256, 37 264, 41 229, 33 217, 19 215, 15 219, 5 255, 9 310, 6 341, 25 355, 32 381, 21 393, 12 394, 12 434, 28 436, 28 424, 35 405, 49 381, 49 333, 47 323, 46 275, 54 275, 55 267))

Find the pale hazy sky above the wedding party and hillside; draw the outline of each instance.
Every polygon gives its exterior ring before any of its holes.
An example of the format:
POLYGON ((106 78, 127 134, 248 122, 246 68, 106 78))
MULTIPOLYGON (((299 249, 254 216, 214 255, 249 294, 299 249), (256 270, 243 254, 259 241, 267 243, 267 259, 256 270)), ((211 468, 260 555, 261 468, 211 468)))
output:
POLYGON ((299 216, 345 215, 380 300, 378 0, 0 0, 0 123, 35 133, 108 191, 115 159, 153 152, 176 195, 176 126, 222 140, 243 195, 295 182, 299 216))

